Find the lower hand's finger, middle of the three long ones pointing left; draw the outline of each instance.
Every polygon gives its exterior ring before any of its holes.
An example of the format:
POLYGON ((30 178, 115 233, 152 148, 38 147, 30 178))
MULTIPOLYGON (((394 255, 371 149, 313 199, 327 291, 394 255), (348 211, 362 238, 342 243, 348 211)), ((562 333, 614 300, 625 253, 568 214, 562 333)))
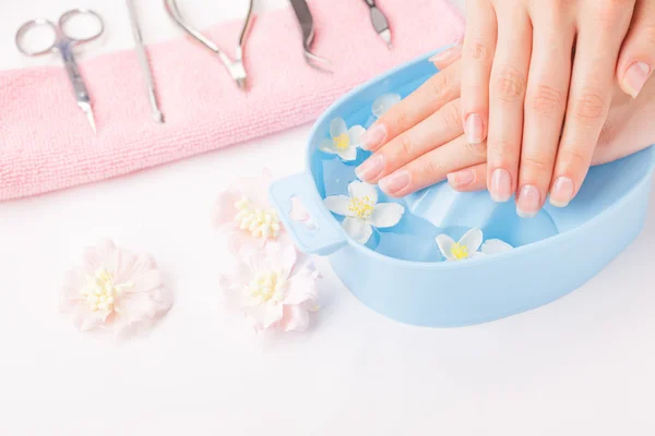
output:
POLYGON ((464 132, 460 117, 460 99, 456 99, 386 143, 357 167, 355 173, 365 182, 377 183, 384 175, 462 133, 464 132))

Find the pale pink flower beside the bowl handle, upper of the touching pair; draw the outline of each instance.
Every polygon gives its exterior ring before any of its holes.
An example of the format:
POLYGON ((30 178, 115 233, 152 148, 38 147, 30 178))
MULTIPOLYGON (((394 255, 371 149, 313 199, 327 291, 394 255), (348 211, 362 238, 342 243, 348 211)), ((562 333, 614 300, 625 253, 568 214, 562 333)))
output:
POLYGON ((229 246, 263 246, 286 239, 277 211, 269 202, 271 171, 262 169, 257 177, 242 178, 218 194, 213 222, 228 234, 229 246))

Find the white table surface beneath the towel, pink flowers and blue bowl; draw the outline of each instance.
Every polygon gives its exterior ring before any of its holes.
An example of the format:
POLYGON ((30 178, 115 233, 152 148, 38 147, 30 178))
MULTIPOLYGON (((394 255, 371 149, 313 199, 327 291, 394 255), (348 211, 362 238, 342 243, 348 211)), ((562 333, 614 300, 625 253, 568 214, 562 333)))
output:
MULTIPOLYGON (((13 48, 23 21, 73 4, 2 3, 0 68, 34 63, 13 48)), ((140 3, 142 12, 150 4, 146 40, 179 34, 160 1, 140 3)), ((243 2, 180 3, 211 24, 243 2)), ((107 38, 94 49, 131 46, 121 2, 76 4, 106 17, 107 38)), ((426 329, 389 320, 324 262, 311 331, 257 337, 224 316, 214 197, 270 161, 278 175, 299 171, 308 130, 0 204, 0 435, 655 434, 655 203, 640 239, 591 282, 499 322, 426 329), (56 310, 63 271, 100 237, 154 254, 176 294, 152 331, 126 342, 80 335, 56 310)))

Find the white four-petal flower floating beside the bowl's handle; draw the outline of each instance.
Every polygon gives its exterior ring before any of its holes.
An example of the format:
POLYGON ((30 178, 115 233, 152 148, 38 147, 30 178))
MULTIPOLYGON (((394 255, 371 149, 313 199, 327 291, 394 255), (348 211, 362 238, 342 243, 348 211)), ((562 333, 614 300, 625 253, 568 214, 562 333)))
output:
POLYGON ((393 227, 405 213, 397 203, 378 203, 378 191, 372 184, 354 181, 348 185, 348 195, 326 197, 323 204, 330 211, 346 217, 344 230, 360 244, 366 244, 373 227, 393 227))

